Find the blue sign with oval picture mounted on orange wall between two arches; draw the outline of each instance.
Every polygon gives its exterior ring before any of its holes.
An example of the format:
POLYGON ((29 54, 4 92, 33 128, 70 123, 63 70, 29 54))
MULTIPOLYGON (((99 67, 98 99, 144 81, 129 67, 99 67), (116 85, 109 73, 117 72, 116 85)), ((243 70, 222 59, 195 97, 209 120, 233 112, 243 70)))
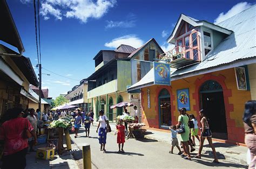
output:
POLYGON ((180 108, 186 108, 190 111, 190 93, 188 89, 177 90, 178 110, 180 108))

